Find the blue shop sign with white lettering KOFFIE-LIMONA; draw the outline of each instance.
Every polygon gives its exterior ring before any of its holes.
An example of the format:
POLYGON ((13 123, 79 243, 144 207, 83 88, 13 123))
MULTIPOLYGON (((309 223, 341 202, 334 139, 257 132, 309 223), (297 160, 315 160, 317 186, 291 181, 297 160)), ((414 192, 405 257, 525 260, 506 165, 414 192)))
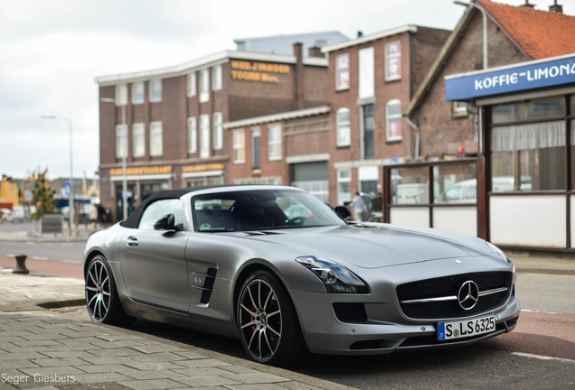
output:
POLYGON ((445 78, 448 101, 575 83, 575 55, 523 62, 495 70, 452 75, 445 78))

